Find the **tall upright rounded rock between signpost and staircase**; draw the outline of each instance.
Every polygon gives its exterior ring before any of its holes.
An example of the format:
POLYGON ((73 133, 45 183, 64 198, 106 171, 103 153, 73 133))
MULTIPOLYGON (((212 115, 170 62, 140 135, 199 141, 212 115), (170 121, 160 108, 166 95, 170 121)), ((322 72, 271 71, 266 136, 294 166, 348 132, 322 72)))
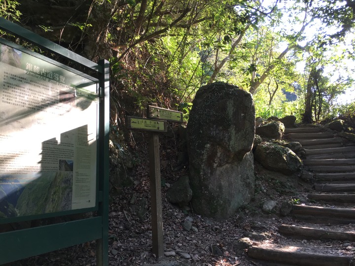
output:
POLYGON ((187 125, 194 211, 230 217, 254 194, 255 110, 251 95, 217 82, 196 94, 187 125))

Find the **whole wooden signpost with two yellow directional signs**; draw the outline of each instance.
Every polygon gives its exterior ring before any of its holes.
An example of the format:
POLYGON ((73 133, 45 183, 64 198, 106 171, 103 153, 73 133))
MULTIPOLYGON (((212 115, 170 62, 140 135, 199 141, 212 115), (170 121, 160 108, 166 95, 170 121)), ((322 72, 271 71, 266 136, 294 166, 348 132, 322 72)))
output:
POLYGON ((159 132, 167 132, 167 121, 182 123, 182 112, 147 106, 147 117, 127 117, 127 128, 149 131, 149 179, 152 225, 152 252, 157 259, 164 255, 163 214, 161 201, 159 132), (162 119, 162 120, 160 120, 162 119))

